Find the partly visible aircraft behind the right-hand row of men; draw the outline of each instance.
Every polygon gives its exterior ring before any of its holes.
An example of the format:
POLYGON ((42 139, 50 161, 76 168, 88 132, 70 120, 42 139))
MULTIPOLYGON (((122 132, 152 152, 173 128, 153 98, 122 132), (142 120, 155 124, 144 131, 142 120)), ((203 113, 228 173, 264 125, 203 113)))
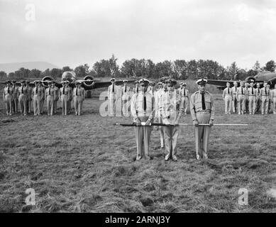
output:
MULTIPOLYGON (((260 83, 260 87, 263 87, 263 83, 267 82, 270 84, 270 89, 274 89, 276 84, 276 73, 275 72, 259 72, 255 77, 246 77, 243 82, 250 82, 251 80, 254 81, 254 84, 260 83)), ((226 83, 229 82, 231 87, 233 87, 233 82, 235 80, 219 80, 219 79, 207 79, 207 84, 213 84, 218 86, 218 89, 225 89, 226 83)), ((240 81, 236 81, 238 83, 238 87, 240 86, 240 81)))

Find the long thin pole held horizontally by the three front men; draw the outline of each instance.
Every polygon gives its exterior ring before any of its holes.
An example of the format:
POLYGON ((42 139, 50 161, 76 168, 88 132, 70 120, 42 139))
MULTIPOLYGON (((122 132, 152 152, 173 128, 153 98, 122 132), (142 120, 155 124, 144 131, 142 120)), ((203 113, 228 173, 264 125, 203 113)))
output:
MULTIPOLYGON (((133 127, 136 123, 114 123, 114 126, 133 127)), ((145 122, 141 122, 139 126, 146 126, 145 122)), ((137 126, 137 127, 139 127, 137 126)), ((166 125, 164 123, 150 123, 148 126, 194 126, 193 123, 178 123, 166 125)), ((199 123, 198 126, 210 126, 209 123, 199 123)), ((213 126, 248 126, 247 123, 214 123, 213 126)))

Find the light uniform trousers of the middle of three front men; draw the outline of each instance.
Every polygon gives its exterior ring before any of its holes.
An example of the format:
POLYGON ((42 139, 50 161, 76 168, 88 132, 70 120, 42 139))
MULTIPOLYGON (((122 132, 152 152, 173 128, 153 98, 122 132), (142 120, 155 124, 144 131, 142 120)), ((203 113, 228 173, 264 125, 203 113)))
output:
POLYGON ((165 138, 165 159, 176 159, 177 155, 177 138, 179 135, 180 126, 163 126, 165 138))

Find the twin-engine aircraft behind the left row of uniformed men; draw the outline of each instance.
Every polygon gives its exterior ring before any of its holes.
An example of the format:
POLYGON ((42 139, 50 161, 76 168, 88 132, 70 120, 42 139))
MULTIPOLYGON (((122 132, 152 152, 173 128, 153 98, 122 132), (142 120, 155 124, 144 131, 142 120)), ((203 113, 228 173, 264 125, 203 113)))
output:
MULTIPOLYGON (((35 80, 39 81, 39 79, 35 79, 35 80)), ((53 77, 50 77, 50 76, 46 76, 46 77, 43 77, 43 79, 41 79, 41 82, 43 83, 44 87, 48 87, 48 84, 50 84, 50 82, 52 81, 55 82, 58 88, 62 87, 62 82, 65 82, 65 81, 69 81, 69 86, 72 88, 75 87, 75 82, 81 82, 82 87, 84 87, 85 90, 99 89, 103 87, 109 87, 109 85, 111 85, 110 81, 104 82, 98 79, 94 79, 90 75, 85 76, 84 79, 77 79, 74 71, 63 72, 61 81, 56 81, 53 77)), ((128 79, 128 83, 133 83, 135 81, 136 79, 128 79)), ((6 82, 0 82, 0 83, 6 84, 6 82)), ((21 83, 19 81, 19 82, 16 82, 16 84, 19 85, 21 83)), ((122 85, 122 84, 123 84, 122 80, 116 81, 116 85, 122 85)), ((34 82, 30 82, 30 86, 34 87, 35 86, 34 82)))

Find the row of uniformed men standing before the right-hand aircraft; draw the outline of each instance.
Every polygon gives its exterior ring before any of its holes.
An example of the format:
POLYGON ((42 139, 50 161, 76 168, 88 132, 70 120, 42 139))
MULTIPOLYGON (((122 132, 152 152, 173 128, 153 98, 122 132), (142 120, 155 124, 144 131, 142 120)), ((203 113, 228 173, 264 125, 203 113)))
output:
POLYGON ((264 83, 263 88, 260 84, 254 87, 254 81, 241 82, 240 87, 238 83, 234 82, 233 87, 227 82, 226 89, 223 90, 223 99, 225 102, 225 114, 269 114, 270 109, 273 114, 276 114, 276 84, 274 89, 270 89, 270 84, 264 83))

